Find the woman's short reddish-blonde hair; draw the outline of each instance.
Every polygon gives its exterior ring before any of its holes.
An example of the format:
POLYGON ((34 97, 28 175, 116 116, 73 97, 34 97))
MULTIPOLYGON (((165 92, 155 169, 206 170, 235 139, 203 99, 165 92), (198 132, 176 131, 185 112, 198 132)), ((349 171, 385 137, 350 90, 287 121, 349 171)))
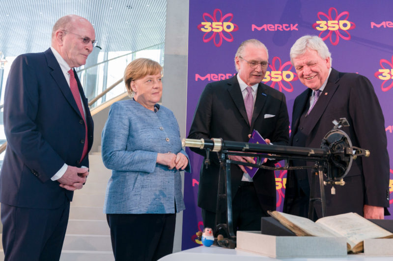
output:
POLYGON ((162 73, 163 68, 159 63, 147 58, 138 58, 129 63, 124 71, 124 84, 126 85, 127 93, 133 96, 134 92, 131 89, 131 82, 143 78, 146 75, 154 75, 162 73))

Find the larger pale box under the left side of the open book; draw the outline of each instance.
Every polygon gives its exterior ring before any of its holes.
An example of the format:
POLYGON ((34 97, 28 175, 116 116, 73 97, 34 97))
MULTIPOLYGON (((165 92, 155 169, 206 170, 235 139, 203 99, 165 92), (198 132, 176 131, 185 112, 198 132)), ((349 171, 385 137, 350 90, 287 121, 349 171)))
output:
POLYGON ((345 237, 277 237, 238 231, 236 249, 272 258, 346 257, 345 237))

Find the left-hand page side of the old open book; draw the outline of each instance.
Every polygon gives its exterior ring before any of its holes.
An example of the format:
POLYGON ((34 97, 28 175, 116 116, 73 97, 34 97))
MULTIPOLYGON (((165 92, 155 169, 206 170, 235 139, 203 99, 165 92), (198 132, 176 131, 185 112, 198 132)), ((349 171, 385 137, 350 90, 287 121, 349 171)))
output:
POLYGON ((325 227, 319 226, 318 224, 315 224, 312 220, 301 217, 301 216, 295 216, 291 214, 285 214, 277 211, 273 211, 270 213, 273 217, 275 217, 277 220, 281 222, 285 227, 293 231, 297 236, 315 236, 315 237, 342 237, 338 235, 337 233, 332 233, 325 227), (282 218, 283 217, 283 218, 282 218), (282 220, 285 219, 285 220, 282 220), (289 222, 288 222, 289 221, 289 222), (292 223, 296 227, 294 228, 291 226, 292 223), (306 234, 301 235, 297 229, 301 229, 302 231, 306 232, 306 234))

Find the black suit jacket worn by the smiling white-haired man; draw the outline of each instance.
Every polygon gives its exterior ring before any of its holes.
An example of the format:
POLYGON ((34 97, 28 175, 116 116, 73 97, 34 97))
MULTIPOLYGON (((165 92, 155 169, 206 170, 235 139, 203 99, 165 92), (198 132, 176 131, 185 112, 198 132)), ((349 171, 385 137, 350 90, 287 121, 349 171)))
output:
MULTIPOLYGON (((370 157, 359 157, 344 178, 344 186, 335 186, 336 195, 325 187, 327 215, 356 212, 363 215, 363 206, 389 207, 389 156, 385 121, 378 98, 370 81, 356 73, 332 69, 327 85, 308 117, 309 124, 299 129, 299 120, 309 107, 311 90, 297 96, 293 105, 290 144, 296 145, 297 134, 306 137, 305 146, 319 148, 323 137, 333 128, 334 119, 346 118, 349 127, 343 127, 353 146, 370 151, 370 157)), ((296 162, 295 162, 296 164, 296 162)), ((310 164, 310 163, 309 163, 310 164)), ((307 197, 310 171, 289 171, 284 199, 284 212, 307 215, 300 209, 300 197, 307 197), (303 213, 301 213, 303 212, 303 213)), ((319 186, 318 192, 319 192, 319 186)), ((317 208, 318 217, 321 217, 317 208)))

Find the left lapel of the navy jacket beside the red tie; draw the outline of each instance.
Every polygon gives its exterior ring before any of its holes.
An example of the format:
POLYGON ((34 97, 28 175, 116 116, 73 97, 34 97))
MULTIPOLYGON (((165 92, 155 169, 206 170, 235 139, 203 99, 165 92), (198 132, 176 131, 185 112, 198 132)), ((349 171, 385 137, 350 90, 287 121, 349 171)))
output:
MULTIPOLYGON (((71 93, 71 89, 67 84, 66 79, 64 78, 64 74, 60 69, 60 65, 58 64, 55 55, 53 54, 51 48, 46 50, 44 52, 46 60, 48 62, 48 67, 51 68, 53 71, 51 71, 51 75, 53 79, 55 80, 57 86, 60 88, 60 91, 63 93, 64 97, 68 101, 68 103, 71 105, 71 107, 78 113, 81 117, 81 113, 78 109, 77 103, 75 102, 74 96, 71 93)), ((76 74, 75 74, 76 75, 76 74)), ((76 77, 78 78, 78 77, 76 77)), ((78 86, 80 85, 79 79, 77 80, 78 86)))

